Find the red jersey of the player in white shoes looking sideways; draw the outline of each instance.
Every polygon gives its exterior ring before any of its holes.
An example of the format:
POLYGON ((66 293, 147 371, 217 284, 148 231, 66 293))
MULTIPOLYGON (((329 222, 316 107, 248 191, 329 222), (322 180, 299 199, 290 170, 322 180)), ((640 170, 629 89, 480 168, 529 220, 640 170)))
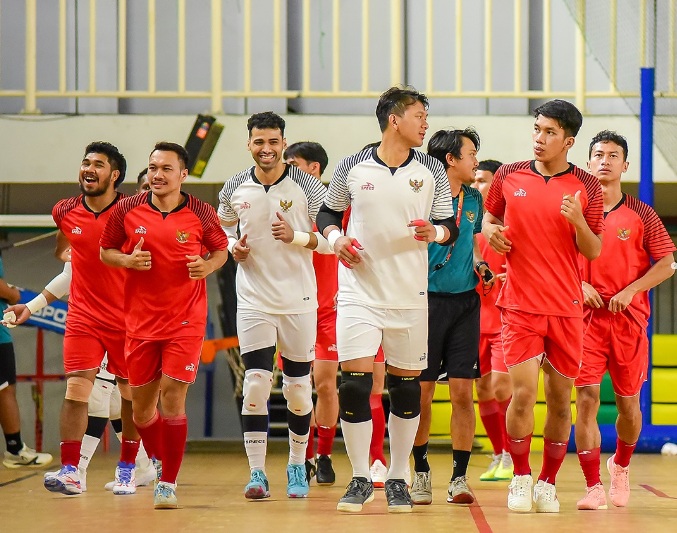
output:
POLYGON ((602 189, 593 175, 570 165, 546 179, 533 161, 498 169, 485 207, 508 226, 512 249, 505 257, 507 279, 497 306, 539 315, 583 316, 576 232, 560 212, 562 198, 577 191, 588 226, 601 234, 602 189))

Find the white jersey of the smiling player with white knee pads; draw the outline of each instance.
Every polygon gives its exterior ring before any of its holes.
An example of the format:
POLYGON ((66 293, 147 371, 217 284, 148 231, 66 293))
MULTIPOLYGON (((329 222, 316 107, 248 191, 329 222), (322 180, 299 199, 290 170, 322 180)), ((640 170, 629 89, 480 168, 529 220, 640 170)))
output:
POLYGON ((294 166, 273 185, 262 185, 254 167, 226 181, 219 217, 230 224, 239 220, 251 249, 235 278, 238 308, 271 314, 317 309, 312 250, 276 241, 272 224, 280 213, 294 230, 312 231, 326 192, 318 179, 294 166))

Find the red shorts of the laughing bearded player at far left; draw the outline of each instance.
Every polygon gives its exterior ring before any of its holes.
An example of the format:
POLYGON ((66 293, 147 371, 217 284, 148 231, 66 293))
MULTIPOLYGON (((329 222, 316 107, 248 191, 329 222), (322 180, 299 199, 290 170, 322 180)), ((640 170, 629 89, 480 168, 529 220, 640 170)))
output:
POLYGON ((78 326, 78 331, 66 327, 63 338, 63 366, 66 374, 98 369, 108 354, 108 371, 127 379, 125 362, 125 332, 78 326))

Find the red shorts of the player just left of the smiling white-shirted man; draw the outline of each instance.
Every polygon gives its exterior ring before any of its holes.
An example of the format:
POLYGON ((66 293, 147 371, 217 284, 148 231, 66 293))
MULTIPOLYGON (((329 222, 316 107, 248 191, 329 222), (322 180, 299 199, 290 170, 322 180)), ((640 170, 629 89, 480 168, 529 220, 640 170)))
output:
POLYGON ((127 338, 125 356, 132 387, 147 385, 165 376, 193 383, 200 365, 203 337, 145 340, 127 338))

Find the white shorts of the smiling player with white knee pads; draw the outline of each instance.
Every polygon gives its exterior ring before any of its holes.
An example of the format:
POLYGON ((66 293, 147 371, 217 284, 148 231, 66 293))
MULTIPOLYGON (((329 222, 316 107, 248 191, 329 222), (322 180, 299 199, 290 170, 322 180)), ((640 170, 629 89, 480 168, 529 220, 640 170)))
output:
POLYGON ((277 345, 286 359, 306 363, 315 359, 317 311, 273 315, 253 309, 237 310, 237 337, 242 355, 277 345))

